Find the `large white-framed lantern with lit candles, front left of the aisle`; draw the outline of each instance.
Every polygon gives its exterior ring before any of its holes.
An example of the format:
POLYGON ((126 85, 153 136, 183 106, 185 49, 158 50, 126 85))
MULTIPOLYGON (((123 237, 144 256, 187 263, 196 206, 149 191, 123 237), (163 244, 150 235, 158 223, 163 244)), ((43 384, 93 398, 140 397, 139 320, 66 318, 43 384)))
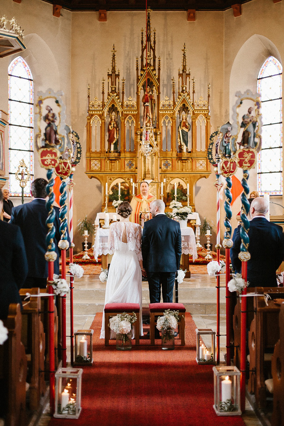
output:
POLYGON ((77 419, 81 412, 82 368, 59 368, 55 373, 54 417, 77 419))

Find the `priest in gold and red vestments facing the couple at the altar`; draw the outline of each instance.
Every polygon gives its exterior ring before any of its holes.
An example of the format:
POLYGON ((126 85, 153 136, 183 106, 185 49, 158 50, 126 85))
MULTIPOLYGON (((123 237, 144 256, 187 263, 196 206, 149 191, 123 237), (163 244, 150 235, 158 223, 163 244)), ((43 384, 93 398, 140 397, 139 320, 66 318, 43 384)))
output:
POLYGON ((143 227, 144 221, 152 219, 150 213, 150 203, 155 200, 155 197, 149 194, 149 184, 142 181, 140 184, 140 194, 134 196, 130 202, 132 213, 130 221, 138 223, 143 227))

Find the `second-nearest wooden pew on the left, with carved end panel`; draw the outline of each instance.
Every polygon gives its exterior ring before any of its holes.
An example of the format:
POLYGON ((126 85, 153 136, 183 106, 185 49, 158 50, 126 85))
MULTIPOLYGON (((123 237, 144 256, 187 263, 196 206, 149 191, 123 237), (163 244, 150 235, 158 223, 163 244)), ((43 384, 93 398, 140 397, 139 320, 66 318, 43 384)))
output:
POLYGON ((20 296, 22 311, 22 342, 28 360, 29 408, 34 411, 40 405, 40 397, 46 390, 44 381, 45 334, 40 320, 40 297, 30 297, 26 293, 37 296, 39 288, 22 288, 20 296))

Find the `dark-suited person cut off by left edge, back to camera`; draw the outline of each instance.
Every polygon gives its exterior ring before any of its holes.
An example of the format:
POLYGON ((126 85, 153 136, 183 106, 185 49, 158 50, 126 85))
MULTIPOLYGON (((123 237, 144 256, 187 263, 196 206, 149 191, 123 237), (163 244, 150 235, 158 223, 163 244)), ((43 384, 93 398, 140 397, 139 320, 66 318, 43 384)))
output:
MULTIPOLYGON (((3 193, 0 190, 0 211, 3 193)), ((25 245, 18 226, 0 220, 0 320, 8 316, 10 303, 20 303, 19 290, 28 273, 25 245)))

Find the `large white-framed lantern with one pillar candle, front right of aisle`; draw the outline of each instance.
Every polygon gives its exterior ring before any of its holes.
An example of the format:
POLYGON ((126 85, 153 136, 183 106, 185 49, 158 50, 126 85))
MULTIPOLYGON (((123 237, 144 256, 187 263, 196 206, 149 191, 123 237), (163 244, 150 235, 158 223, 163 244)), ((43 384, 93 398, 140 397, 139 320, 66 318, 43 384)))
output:
POLYGON ((240 416, 240 378, 235 366, 215 366, 214 405, 218 416, 240 416))

